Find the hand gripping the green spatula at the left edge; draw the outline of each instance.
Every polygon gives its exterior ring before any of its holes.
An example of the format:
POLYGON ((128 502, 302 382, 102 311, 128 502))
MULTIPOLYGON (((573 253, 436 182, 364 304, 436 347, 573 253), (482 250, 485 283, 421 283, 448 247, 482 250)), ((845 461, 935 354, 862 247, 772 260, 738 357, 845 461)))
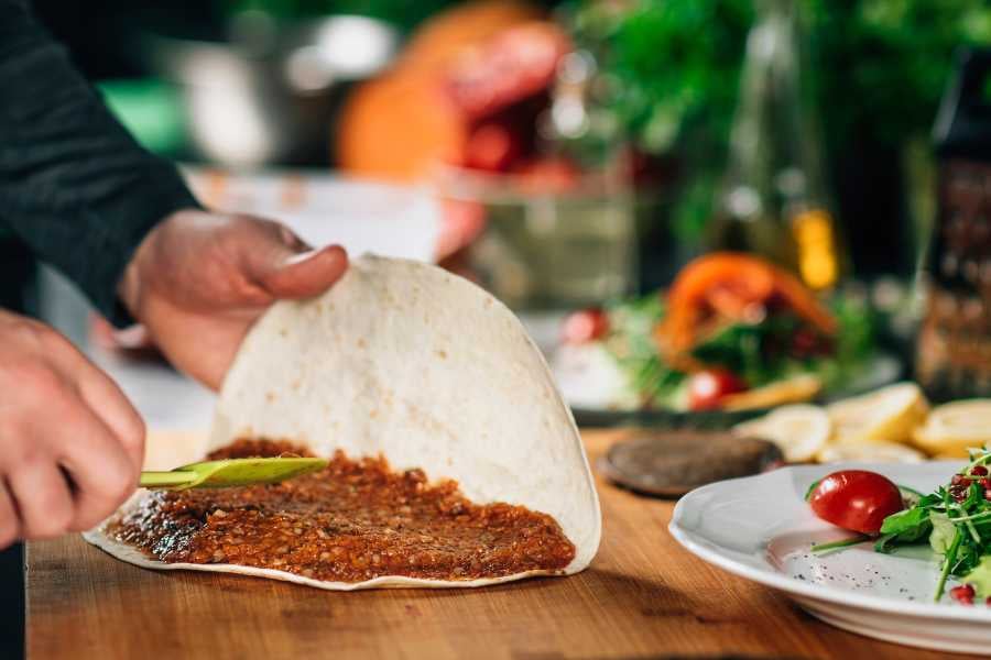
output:
POLYGON ((144 424, 62 334, 0 311, 0 548, 84 531, 138 486, 144 424))

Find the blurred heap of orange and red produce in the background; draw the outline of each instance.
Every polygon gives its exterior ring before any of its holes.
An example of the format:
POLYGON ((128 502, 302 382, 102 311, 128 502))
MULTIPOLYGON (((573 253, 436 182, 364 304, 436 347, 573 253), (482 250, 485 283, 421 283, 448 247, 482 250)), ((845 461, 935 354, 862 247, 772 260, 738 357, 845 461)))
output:
POLYGON ((507 172, 535 157, 537 119, 571 47, 538 16, 522 3, 480 2, 429 21, 389 74, 348 99, 341 168, 422 180, 444 164, 507 172))

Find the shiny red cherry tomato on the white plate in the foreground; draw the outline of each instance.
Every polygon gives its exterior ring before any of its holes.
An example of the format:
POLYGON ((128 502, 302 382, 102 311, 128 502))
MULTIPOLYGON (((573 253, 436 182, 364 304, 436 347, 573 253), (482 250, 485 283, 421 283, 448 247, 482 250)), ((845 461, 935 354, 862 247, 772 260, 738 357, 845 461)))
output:
POLYGON ((884 518, 905 508, 899 487, 867 470, 834 472, 815 485, 807 499, 818 517, 861 534, 878 534, 884 518))

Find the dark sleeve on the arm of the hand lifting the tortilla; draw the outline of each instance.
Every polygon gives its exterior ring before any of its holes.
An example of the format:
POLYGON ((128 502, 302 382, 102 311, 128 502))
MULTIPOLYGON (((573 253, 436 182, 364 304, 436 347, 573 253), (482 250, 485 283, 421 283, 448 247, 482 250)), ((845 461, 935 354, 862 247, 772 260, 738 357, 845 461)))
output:
POLYGON ((151 228, 198 207, 175 167, 141 148, 36 22, 0 0, 0 221, 107 318, 151 228))

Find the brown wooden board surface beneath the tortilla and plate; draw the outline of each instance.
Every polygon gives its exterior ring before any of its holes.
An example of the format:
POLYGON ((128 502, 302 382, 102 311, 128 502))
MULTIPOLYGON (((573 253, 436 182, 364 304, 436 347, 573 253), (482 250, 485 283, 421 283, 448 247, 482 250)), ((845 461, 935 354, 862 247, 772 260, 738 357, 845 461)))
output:
MULTIPOLYGON (((620 433, 587 431, 591 459, 620 433)), ((146 571, 79 537, 29 543, 28 657, 945 657, 821 624, 683 550, 667 534, 671 502, 601 481, 599 492, 605 532, 588 570, 482 590, 335 593, 146 571)))

